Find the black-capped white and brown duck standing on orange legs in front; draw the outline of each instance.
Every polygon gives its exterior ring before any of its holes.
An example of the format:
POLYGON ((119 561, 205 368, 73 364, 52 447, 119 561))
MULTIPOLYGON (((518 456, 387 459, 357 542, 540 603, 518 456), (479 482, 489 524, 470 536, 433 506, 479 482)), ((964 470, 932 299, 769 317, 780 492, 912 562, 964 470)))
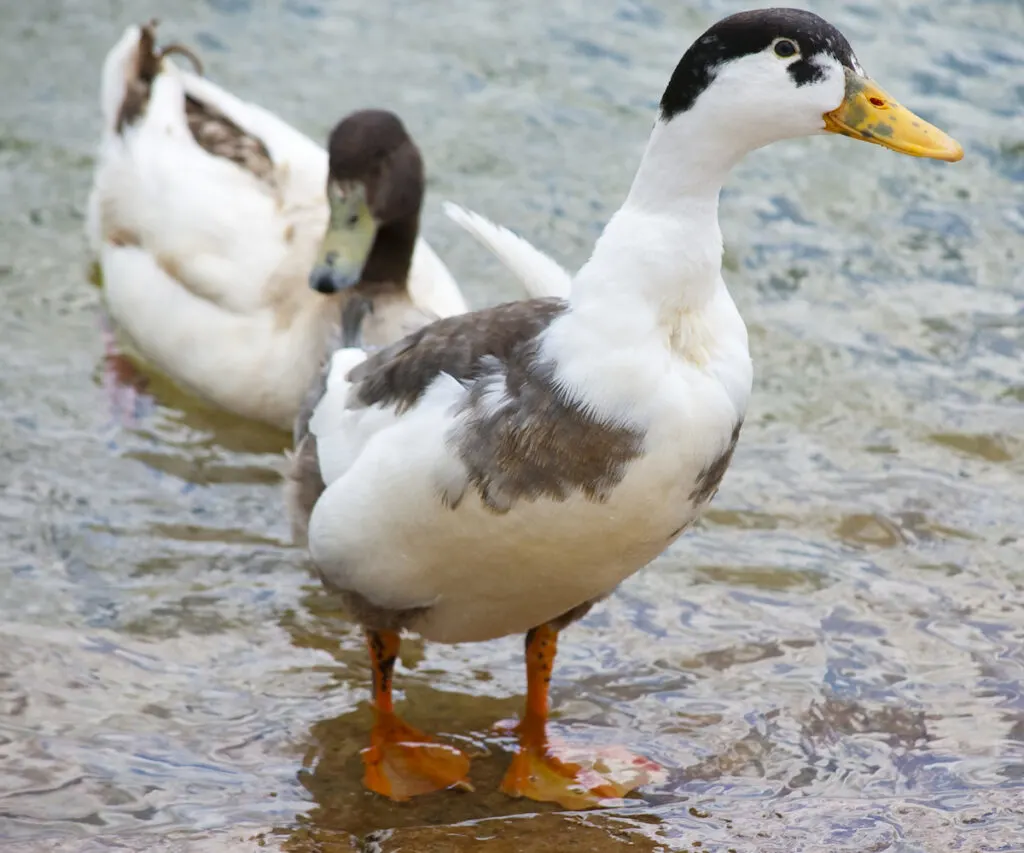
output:
POLYGON ((873 82, 820 16, 725 17, 675 66, 625 201, 563 295, 332 354, 308 401, 299 476, 316 484, 311 563, 366 636, 368 790, 401 801, 472 786, 468 757, 395 710, 403 634, 524 638, 525 708, 505 794, 584 808, 636 787, 552 747, 558 639, 716 495, 753 379, 722 275, 719 196, 748 153, 824 133, 916 158, 964 156, 873 82))

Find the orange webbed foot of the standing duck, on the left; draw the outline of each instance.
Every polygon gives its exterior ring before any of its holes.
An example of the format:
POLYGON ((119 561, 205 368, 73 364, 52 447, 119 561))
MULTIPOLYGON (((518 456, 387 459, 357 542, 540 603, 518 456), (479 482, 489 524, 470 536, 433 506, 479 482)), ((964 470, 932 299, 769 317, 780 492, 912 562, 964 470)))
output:
POLYGON ((473 790, 467 778, 469 759, 461 750, 438 742, 394 714, 378 716, 371 745, 361 755, 362 783, 391 800, 449 787, 473 790))

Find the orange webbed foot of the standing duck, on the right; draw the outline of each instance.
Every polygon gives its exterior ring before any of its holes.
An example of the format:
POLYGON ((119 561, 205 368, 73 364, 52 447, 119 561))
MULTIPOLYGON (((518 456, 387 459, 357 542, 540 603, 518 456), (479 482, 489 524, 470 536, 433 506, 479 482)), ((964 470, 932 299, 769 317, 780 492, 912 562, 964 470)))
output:
POLYGON ((565 750, 563 755, 566 760, 554 755, 546 743, 520 742, 502 780, 502 792, 510 797, 557 803, 565 809, 592 809, 622 799, 649 783, 660 771, 658 765, 625 750, 589 756, 565 750))

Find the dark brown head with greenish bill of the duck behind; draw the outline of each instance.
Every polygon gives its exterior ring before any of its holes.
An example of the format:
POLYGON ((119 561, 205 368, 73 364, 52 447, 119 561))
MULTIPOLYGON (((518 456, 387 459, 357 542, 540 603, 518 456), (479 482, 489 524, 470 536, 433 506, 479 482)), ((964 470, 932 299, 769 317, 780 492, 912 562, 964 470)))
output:
POLYGON ((419 229, 423 159, 393 113, 361 110, 328 139, 330 219, 309 285, 337 293, 361 281, 404 281, 419 229))

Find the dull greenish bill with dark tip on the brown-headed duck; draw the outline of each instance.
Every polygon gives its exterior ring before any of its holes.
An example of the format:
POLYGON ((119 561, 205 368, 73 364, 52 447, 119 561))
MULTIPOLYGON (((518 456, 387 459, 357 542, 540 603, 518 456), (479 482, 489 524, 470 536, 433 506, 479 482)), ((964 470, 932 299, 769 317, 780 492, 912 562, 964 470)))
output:
POLYGON ((319 293, 338 293, 354 287, 362 278, 377 238, 377 220, 367 204, 366 186, 328 184, 331 215, 321 243, 309 287, 319 293))

